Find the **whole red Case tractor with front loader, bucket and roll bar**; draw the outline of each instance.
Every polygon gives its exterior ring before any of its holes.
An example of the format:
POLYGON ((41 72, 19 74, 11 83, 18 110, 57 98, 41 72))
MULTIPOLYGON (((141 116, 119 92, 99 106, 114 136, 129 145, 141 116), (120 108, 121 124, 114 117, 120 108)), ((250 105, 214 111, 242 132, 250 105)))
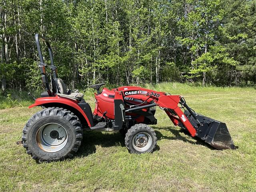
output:
POLYGON ((46 92, 29 106, 43 109, 28 120, 22 131, 22 144, 34 160, 51 162, 72 157, 82 143, 83 130, 124 132, 130 153, 152 152, 157 138, 148 125, 157 123, 156 106, 166 112, 175 126, 188 130, 192 137, 196 136, 216 149, 236 148, 225 123, 196 114, 179 95, 136 86, 100 90, 105 83, 94 84, 89 86, 96 90, 96 106, 92 112, 83 99, 84 94, 68 90, 63 80, 57 77, 48 40, 39 34, 35 38, 40 58, 38 66, 46 92), (40 39, 46 43, 50 54, 51 84, 46 75, 40 39))

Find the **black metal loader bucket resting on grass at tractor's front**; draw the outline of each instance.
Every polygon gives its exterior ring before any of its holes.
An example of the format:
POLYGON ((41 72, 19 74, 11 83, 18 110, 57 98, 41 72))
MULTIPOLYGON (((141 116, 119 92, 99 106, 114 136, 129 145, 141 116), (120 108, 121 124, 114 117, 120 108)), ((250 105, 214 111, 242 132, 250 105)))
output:
POLYGON ((188 117, 188 120, 194 128, 196 128, 196 136, 198 138, 204 140, 218 150, 236 149, 225 123, 196 114, 196 118, 201 122, 198 127, 197 121, 192 117, 190 112, 185 110, 184 114, 188 117))

